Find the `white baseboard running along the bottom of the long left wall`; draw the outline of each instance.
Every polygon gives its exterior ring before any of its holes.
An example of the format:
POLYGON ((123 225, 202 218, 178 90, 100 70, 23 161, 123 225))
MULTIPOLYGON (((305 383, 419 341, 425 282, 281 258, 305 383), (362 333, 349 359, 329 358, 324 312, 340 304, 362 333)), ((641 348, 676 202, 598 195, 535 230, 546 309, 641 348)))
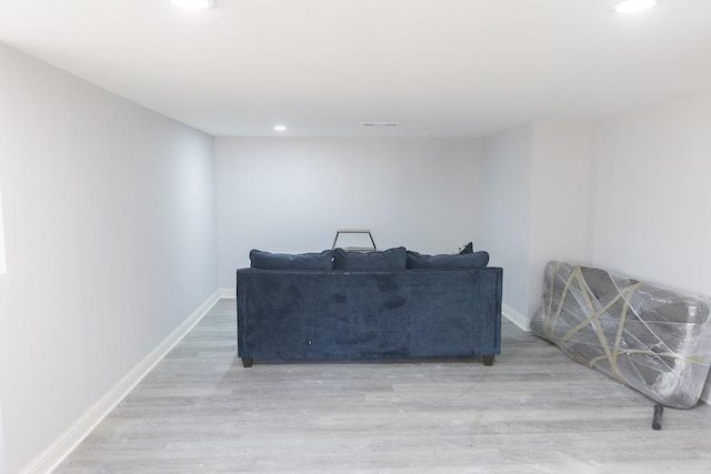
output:
POLYGON ((123 379, 79 417, 64 433, 39 456, 20 471, 20 474, 51 473, 97 427, 99 423, 138 385, 138 383, 200 322, 214 303, 220 291, 211 294, 168 337, 156 346, 123 379))

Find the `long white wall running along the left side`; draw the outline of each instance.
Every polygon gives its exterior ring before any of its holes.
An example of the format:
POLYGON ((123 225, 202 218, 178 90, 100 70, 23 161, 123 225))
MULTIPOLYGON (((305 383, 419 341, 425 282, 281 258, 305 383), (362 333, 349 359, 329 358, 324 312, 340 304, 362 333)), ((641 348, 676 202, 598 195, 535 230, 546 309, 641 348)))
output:
POLYGON ((0 44, 8 472, 218 289, 213 173, 211 137, 0 44))

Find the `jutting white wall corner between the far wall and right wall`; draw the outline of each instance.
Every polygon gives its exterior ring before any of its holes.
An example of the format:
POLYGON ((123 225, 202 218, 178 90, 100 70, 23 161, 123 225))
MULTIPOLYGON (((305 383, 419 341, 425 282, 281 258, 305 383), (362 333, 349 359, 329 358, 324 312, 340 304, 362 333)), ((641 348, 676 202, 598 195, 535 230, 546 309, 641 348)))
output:
POLYGON ((504 314, 521 326, 550 260, 590 259, 587 122, 534 122, 484 140, 481 239, 504 269, 504 314))

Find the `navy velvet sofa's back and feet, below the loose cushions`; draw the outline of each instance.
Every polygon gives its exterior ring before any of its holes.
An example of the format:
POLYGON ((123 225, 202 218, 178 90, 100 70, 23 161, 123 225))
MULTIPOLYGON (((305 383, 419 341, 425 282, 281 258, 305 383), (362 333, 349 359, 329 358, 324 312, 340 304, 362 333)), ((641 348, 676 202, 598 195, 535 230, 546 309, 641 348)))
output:
POLYGON ((238 355, 248 367, 253 359, 432 356, 491 365, 501 353, 502 274, 492 266, 240 269, 238 355))

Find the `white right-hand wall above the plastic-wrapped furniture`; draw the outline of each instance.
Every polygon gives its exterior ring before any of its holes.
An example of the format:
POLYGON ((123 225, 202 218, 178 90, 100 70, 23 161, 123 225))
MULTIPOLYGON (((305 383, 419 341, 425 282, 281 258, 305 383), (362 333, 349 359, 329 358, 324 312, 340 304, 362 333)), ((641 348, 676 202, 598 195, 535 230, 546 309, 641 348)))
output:
POLYGON ((711 92, 594 124, 595 262, 711 294, 711 92))

